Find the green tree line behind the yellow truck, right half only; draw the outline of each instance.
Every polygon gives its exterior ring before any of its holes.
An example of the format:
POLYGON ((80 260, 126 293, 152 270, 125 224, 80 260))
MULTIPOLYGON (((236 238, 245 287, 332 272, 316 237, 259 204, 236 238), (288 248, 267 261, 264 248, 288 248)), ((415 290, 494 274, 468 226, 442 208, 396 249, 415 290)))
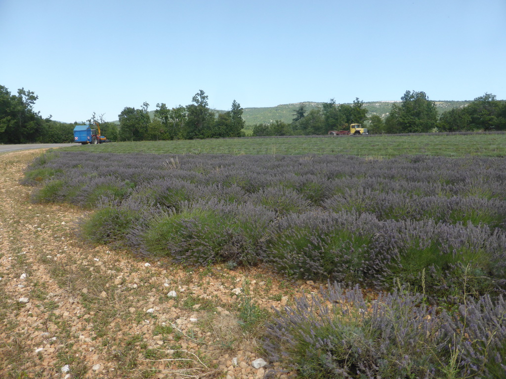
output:
POLYGON ((293 110, 291 123, 275 121, 253 128, 254 136, 327 134, 329 130, 347 130, 351 124, 363 124, 369 133, 427 133, 437 131, 506 130, 506 102, 485 93, 469 105, 438 115, 436 103, 423 91, 407 90, 389 114, 366 116, 367 109, 358 98, 352 105, 323 103, 319 109, 306 112, 301 105, 293 110))

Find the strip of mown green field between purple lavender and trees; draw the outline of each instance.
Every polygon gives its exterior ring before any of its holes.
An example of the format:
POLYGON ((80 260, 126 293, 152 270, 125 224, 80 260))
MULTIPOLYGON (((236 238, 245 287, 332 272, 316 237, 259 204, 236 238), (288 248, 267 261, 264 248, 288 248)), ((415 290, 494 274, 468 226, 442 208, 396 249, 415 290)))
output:
POLYGON ((139 141, 78 145, 62 148, 62 150, 155 154, 345 154, 371 158, 389 158, 406 154, 447 157, 467 155, 503 157, 506 156, 506 134, 434 133, 139 141))

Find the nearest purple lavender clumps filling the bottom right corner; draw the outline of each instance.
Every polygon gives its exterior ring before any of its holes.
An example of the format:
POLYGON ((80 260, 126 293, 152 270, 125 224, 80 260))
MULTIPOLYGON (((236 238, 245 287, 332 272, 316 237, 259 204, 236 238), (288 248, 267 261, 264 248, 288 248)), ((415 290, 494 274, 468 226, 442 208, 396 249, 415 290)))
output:
POLYGON ((506 306, 484 296, 457 313, 394 291, 365 298, 334 283, 267 325, 264 348, 301 378, 502 378, 506 306))

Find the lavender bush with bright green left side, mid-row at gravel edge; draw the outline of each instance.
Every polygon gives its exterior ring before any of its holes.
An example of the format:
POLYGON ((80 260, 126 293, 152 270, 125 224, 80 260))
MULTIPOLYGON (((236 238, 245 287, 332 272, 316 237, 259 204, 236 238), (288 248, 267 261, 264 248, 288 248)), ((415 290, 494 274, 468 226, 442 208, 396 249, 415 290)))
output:
POLYGON ((257 264, 272 212, 223 203, 187 205, 178 214, 154 218, 142 235, 145 251, 178 263, 257 264))

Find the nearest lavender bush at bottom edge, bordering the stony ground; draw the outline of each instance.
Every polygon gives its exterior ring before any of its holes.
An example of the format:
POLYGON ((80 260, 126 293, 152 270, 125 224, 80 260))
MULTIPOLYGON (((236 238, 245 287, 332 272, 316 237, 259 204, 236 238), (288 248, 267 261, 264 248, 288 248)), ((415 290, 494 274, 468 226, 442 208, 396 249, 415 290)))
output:
POLYGON ((420 301, 394 292, 367 304, 358 287, 334 284, 277 312, 264 348, 302 378, 438 377, 445 335, 420 301))

